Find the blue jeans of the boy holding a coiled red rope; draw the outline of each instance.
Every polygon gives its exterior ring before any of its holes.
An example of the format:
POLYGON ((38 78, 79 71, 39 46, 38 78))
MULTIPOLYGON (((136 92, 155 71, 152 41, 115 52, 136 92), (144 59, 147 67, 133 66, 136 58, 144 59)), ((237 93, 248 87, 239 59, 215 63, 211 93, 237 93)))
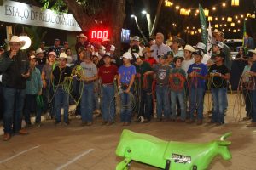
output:
POLYGON ((186 105, 185 105, 185 92, 182 91, 172 91, 171 90, 171 100, 172 100, 172 119, 176 119, 176 99, 178 99, 180 105, 180 112, 181 112, 181 119, 184 121, 186 120, 186 105))

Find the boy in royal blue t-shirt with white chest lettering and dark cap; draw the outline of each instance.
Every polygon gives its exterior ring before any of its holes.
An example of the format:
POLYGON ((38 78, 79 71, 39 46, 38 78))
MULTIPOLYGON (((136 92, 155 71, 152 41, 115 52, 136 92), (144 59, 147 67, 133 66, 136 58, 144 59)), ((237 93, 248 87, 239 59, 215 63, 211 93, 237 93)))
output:
POLYGON ((194 113, 197 110, 196 124, 201 125, 203 119, 204 93, 207 78, 207 65, 201 63, 202 51, 193 52, 195 63, 189 66, 189 123, 195 122, 194 113))

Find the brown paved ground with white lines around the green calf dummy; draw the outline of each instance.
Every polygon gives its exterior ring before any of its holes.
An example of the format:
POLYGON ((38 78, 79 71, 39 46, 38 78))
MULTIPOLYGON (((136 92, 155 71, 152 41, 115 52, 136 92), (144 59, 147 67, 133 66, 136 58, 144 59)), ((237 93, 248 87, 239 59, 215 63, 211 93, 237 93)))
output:
MULTIPOLYGON (((42 127, 32 127, 27 136, 14 136, 9 142, 0 140, 0 169, 74 169, 113 170, 122 159, 115 156, 120 133, 124 128, 137 133, 148 133, 166 140, 207 142, 218 139, 223 133, 232 132, 231 161, 217 157, 209 169, 255 170, 256 128, 245 127, 247 122, 234 122, 239 111, 234 108, 236 94, 229 96, 227 123, 221 127, 189 125, 177 122, 132 123, 122 127, 119 122, 111 127, 101 126, 97 118, 91 127, 81 127, 80 121, 72 119, 71 125, 55 127, 53 121, 42 127), (233 111, 235 115, 233 116, 233 111)), ((207 98, 206 98, 207 108, 207 98)), ((239 114, 240 115, 240 114, 239 114)), ((244 116, 244 113, 241 113, 244 116)), ((157 169, 137 162, 132 170, 157 169)))

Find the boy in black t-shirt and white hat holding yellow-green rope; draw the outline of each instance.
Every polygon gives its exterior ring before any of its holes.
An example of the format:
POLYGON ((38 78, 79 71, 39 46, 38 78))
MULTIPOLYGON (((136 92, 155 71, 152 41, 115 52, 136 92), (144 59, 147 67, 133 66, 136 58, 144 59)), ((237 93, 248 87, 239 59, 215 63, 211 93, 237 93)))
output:
POLYGON ((55 85, 55 126, 61 125, 61 105, 64 109, 64 125, 69 125, 68 108, 69 94, 64 89, 65 79, 71 76, 71 68, 67 66, 67 54, 61 53, 59 65, 56 65, 52 71, 55 85))

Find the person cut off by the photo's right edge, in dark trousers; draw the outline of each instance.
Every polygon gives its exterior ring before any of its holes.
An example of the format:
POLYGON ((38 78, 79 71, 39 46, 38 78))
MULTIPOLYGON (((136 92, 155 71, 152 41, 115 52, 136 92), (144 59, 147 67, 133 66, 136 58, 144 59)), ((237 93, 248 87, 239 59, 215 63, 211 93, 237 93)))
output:
MULTIPOLYGON (((251 70, 247 71, 248 74, 254 77, 254 80, 256 80, 256 49, 249 50, 250 53, 253 54, 253 65, 251 66, 251 70)), ((252 90, 252 122, 247 125, 247 127, 256 127, 256 88, 255 88, 255 82, 254 82, 254 88, 252 90)))

